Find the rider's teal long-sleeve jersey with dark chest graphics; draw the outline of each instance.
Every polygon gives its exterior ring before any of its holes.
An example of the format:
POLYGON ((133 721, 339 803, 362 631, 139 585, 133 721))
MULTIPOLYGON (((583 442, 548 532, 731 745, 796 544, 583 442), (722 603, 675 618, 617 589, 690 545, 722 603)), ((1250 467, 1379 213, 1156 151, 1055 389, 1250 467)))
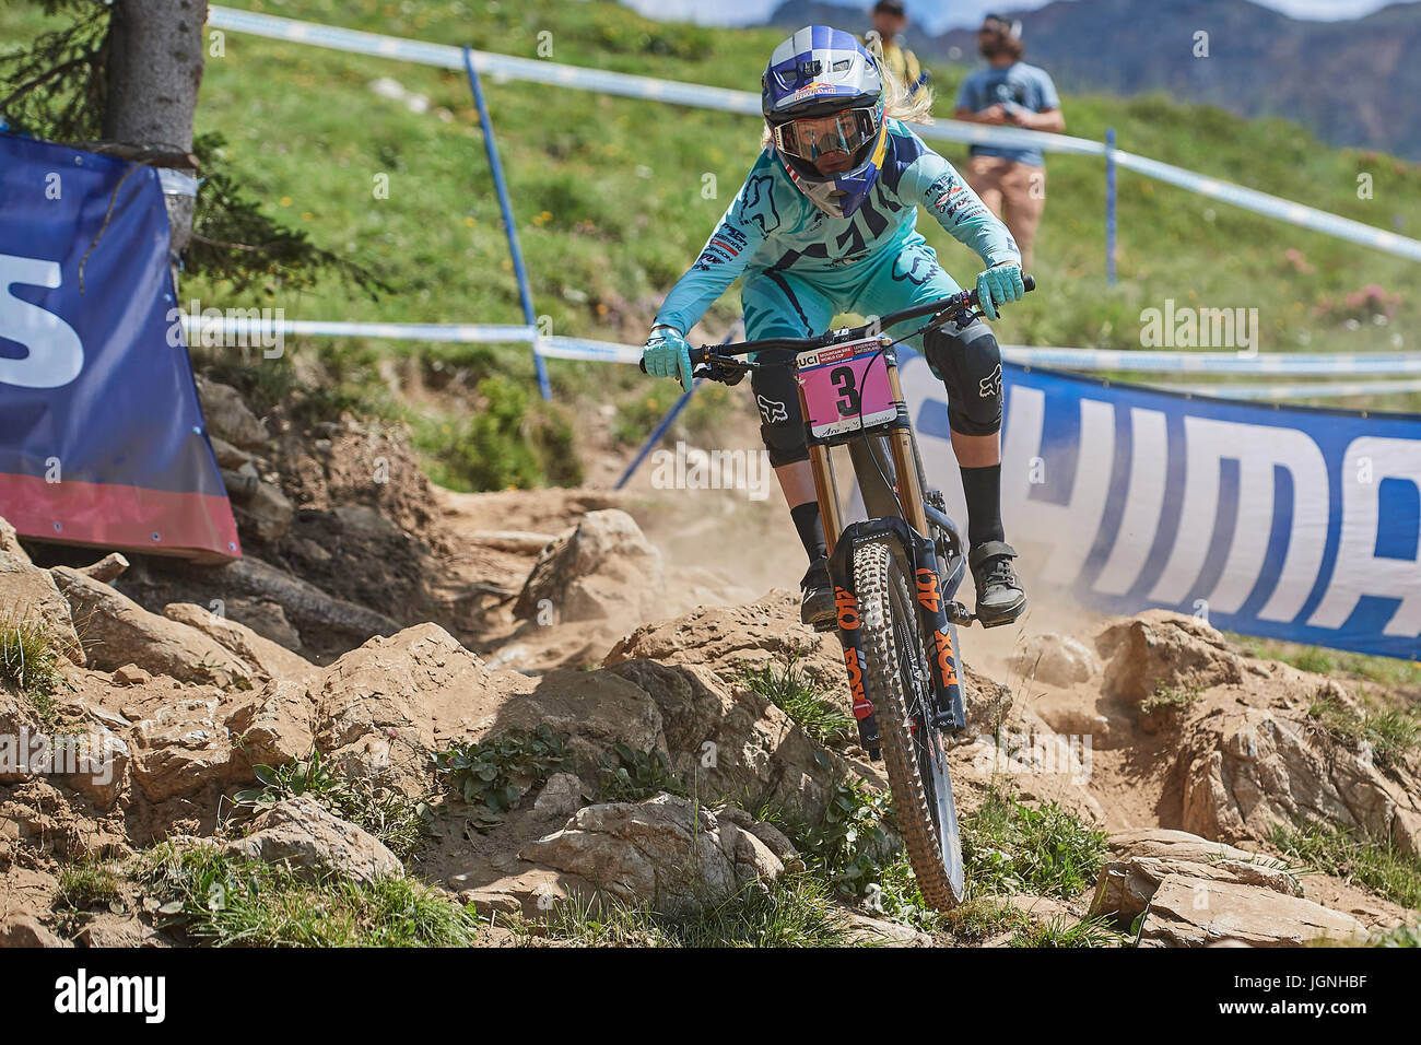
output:
POLYGON ((686 333, 742 273, 790 270, 826 287, 844 287, 898 253, 917 232, 921 203, 988 266, 1020 263, 1016 240, 952 168, 898 119, 888 121, 878 179, 848 218, 830 218, 791 181, 766 146, 750 168, 701 257, 676 280, 657 323, 686 333))

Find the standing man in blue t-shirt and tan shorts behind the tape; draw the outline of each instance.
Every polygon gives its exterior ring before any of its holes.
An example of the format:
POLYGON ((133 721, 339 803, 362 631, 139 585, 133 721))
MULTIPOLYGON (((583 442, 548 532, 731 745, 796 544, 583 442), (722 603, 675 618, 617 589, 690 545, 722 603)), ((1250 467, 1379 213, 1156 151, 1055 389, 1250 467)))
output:
MULTIPOLYGON (((1022 24, 989 14, 978 30, 978 50, 988 64, 962 81, 955 117, 973 124, 1025 127, 1060 134, 1061 100, 1046 70, 1022 61, 1022 24)), ((968 183, 1002 219, 1032 270, 1032 243, 1046 206, 1046 161, 1040 149, 973 145, 968 183)))

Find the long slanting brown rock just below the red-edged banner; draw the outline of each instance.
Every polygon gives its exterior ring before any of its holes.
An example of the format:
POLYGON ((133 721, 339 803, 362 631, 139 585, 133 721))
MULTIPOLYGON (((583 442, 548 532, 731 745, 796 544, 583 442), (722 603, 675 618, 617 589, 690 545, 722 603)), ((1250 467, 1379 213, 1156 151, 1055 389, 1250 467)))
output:
POLYGON ((50 573, 82 623, 90 667, 101 671, 135 664, 185 682, 230 685, 256 671, 193 627, 149 613, 108 584, 67 566, 50 573))

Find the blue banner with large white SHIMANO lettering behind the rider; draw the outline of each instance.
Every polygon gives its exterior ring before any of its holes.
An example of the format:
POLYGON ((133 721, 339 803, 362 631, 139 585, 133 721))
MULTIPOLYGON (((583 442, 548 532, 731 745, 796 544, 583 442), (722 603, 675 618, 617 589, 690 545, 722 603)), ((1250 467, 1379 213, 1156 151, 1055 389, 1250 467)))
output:
MULTIPOLYGON (((899 350, 901 351, 901 350, 899 350)), ((965 518, 942 384, 901 351, 929 482, 965 518)), ((1007 364, 1006 536, 1106 613, 1421 657, 1421 417, 1275 408, 1007 364)))

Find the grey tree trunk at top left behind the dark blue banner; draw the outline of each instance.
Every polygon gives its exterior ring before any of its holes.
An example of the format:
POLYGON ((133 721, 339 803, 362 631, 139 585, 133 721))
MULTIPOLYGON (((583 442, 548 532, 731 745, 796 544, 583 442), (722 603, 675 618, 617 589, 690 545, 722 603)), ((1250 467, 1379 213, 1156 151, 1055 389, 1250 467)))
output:
MULTIPOLYGON (((107 139, 139 149, 192 152, 206 21, 207 0, 114 0, 104 112, 107 139)), ((192 237, 195 200, 180 195, 165 199, 176 256, 192 237)))

